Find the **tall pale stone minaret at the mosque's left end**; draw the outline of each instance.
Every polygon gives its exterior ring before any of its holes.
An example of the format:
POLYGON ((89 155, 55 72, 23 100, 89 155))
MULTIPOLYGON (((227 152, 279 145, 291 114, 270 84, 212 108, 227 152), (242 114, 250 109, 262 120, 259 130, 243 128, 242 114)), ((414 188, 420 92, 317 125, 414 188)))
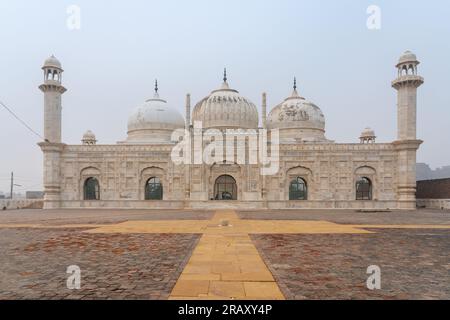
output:
POLYGON ((54 56, 44 66, 44 83, 39 89, 44 93, 44 209, 60 207, 61 168, 60 159, 64 145, 61 143, 61 96, 66 92, 61 84, 63 69, 54 56))

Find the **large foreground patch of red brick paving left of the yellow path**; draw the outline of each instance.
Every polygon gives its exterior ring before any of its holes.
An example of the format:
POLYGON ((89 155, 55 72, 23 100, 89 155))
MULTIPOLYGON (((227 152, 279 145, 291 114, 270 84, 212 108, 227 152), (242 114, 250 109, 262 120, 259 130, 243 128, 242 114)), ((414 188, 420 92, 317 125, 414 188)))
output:
POLYGON ((0 229, 0 299, 167 299, 199 236, 0 229), (69 265, 81 289, 66 286, 69 265))

